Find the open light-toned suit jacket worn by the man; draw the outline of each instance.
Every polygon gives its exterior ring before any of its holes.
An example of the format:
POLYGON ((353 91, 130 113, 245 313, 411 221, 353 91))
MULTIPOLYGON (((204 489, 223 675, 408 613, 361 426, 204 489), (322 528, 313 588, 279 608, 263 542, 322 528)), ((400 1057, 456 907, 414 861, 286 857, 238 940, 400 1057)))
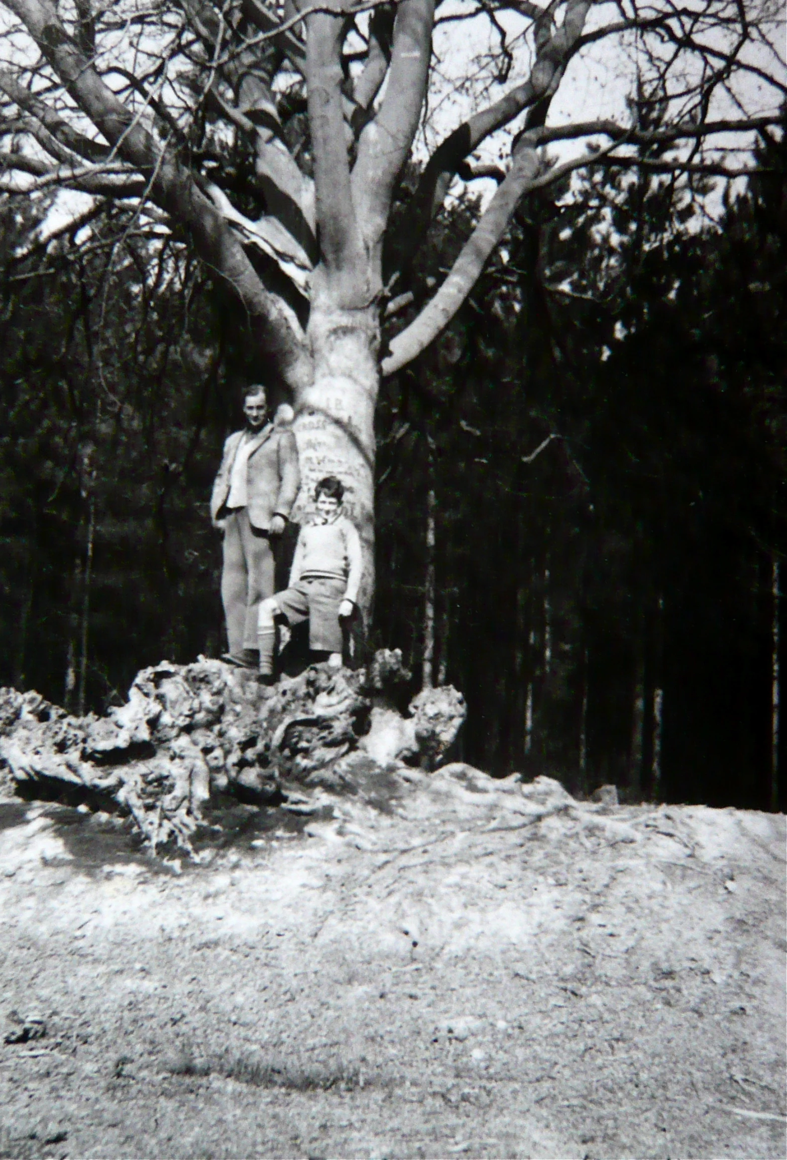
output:
MULTIPOLYGON (((226 515, 225 503, 229 494, 232 465, 243 432, 233 432, 224 444, 221 466, 213 484, 211 495, 211 520, 213 523, 226 515), (224 510, 223 510, 224 509, 224 510)), ((247 470, 247 507, 253 527, 267 531, 274 514, 287 519, 300 487, 298 448, 296 436, 289 428, 276 428, 268 423, 255 436, 249 452, 247 470)))

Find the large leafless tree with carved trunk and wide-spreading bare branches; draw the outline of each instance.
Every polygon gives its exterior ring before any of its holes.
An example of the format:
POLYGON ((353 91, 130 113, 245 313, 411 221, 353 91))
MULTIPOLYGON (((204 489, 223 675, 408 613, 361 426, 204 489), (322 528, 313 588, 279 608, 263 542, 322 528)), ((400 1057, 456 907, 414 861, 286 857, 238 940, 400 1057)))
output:
POLYGON ((450 322, 515 208, 582 166, 745 174, 787 92, 770 0, 2 2, 0 189, 122 201, 196 248, 292 392, 307 488, 350 485, 365 601, 380 375, 450 322), (631 97, 620 118, 554 118, 599 53, 631 97), (408 160, 417 188, 386 238, 408 160), (453 268, 413 302, 430 223, 490 179, 453 268))

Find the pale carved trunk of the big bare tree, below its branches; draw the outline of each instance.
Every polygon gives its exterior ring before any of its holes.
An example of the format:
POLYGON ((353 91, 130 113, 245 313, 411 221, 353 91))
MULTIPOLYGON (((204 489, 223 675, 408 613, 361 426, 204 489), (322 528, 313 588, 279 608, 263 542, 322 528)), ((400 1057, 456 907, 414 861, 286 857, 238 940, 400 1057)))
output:
POLYGON ((336 476, 344 512, 360 535, 364 574, 358 603, 366 623, 374 593, 374 406, 379 387, 377 307, 312 311, 314 382, 296 394, 301 490, 296 515, 313 508, 314 486, 336 476))

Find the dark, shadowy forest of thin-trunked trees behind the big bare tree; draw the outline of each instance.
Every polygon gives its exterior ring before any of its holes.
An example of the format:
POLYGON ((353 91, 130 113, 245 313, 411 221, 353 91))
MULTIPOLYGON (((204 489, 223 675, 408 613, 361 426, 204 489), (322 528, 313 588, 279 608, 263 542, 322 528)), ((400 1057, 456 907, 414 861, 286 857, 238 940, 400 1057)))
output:
MULTIPOLYGON (((785 807, 784 145, 757 158, 721 223, 675 179, 545 191, 382 384, 371 643, 464 691, 494 774, 785 807)), ((0 683, 101 711, 224 651, 207 498, 258 371, 182 238, 96 205, 31 241, 48 211, 0 202, 0 683)), ((474 213, 437 224, 405 311, 474 213)))

